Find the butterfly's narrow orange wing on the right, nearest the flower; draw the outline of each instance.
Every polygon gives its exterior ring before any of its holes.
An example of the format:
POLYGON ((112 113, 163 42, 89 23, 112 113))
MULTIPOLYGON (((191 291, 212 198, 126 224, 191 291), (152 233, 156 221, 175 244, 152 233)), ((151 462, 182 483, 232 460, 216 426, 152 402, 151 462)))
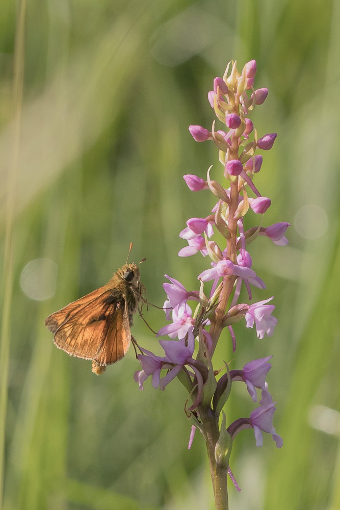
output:
POLYGON ((131 341, 131 332, 128 319, 126 299, 119 303, 110 321, 104 341, 94 358, 99 366, 111 365, 124 358, 131 341))

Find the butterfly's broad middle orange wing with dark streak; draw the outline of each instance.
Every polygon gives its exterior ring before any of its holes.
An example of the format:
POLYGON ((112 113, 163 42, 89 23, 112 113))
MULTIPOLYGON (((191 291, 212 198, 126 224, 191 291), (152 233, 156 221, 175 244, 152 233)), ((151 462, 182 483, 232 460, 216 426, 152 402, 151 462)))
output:
POLYGON ((116 322, 116 315, 122 315, 124 301, 109 289, 87 304, 81 304, 55 330, 54 343, 72 356, 93 360, 106 341, 111 324, 116 322))

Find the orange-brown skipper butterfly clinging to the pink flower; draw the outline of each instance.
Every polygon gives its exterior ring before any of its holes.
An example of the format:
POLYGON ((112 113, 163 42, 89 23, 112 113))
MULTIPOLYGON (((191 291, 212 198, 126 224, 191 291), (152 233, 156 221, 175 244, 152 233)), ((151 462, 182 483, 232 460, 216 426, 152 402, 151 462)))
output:
POLYGON ((130 342, 136 346, 130 327, 145 301, 142 290, 139 267, 126 261, 106 285, 49 315, 45 325, 59 349, 92 360, 92 372, 99 375, 124 358, 130 342))

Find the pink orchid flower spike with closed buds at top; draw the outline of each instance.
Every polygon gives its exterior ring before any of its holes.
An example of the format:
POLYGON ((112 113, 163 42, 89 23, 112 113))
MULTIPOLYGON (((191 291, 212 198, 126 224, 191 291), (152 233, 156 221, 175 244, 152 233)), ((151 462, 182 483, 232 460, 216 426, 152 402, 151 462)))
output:
POLYGON ((249 119, 254 108, 262 105, 268 95, 267 88, 253 88, 255 74, 254 60, 248 62, 242 72, 238 71, 236 62, 229 62, 223 77, 215 78, 213 90, 208 93, 210 105, 218 121, 224 124, 224 129, 217 130, 216 121, 211 129, 200 125, 189 127, 195 141, 210 141, 216 145, 223 169, 216 181, 211 177, 212 167, 204 179, 194 174, 184 175, 191 191, 210 190, 217 202, 205 218, 188 219, 187 226, 179 234, 188 245, 181 248, 178 255, 191 257, 200 252, 207 257, 206 260, 210 260, 210 267, 198 275, 199 291, 187 291, 184 285, 166 275, 170 283, 164 284, 167 294, 164 309, 170 323, 159 330, 158 336, 167 335, 171 340, 160 340, 164 356, 156 356, 142 349, 143 353, 138 355, 142 370, 135 373, 135 379, 140 389, 143 389, 144 381, 151 377, 152 386, 164 390, 178 376, 193 400, 188 410, 192 422, 200 428, 203 436, 204 409, 209 408, 218 422, 232 382, 243 381, 254 402, 257 401, 256 389, 261 390, 259 407, 249 418, 240 418, 227 428, 220 428, 221 435, 227 434, 233 441, 240 430, 250 427, 254 429, 257 446, 262 445, 262 432, 267 432, 279 448, 282 439, 272 424, 275 407, 266 382, 272 356, 250 361, 242 370, 229 371, 227 367, 227 372, 219 378, 216 374, 221 369, 214 371, 212 365, 223 328, 228 328, 235 351, 234 323, 244 320, 246 327, 255 326, 259 339, 272 336, 277 323, 272 316, 275 306, 268 304, 273 297, 251 303, 251 288, 265 291, 266 284, 252 268, 249 246, 259 236, 284 246, 288 242, 285 233, 290 226, 287 222, 262 226, 271 200, 262 196, 253 183, 263 164, 263 157, 255 155, 255 151, 270 150, 277 135, 269 133, 258 138, 249 119), (245 230, 244 218, 248 212, 261 216, 259 221, 256 221, 258 216, 253 216, 255 226, 245 230), (214 240, 216 233, 219 234, 218 239, 222 236, 222 243, 214 240), (209 291, 206 291, 206 285, 210 285, 209 291), (243 285, 249 303, 239 302, 243 285), (194 302, 194 312, 189 302, 194 302), (167 372, 161 377, 164 369, 167 372))

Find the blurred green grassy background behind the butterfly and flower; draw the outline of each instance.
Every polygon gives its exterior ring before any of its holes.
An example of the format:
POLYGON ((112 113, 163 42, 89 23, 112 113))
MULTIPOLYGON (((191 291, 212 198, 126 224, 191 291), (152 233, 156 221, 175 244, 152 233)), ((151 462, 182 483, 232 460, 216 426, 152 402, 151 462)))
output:
MULTIPOLYGON (((236 356, 227 334, 216 353, 217 365, 236 358, 232 368, 274 355, 268 382, 284 440, 278 450, 270 437, 256 448, 251 430, 238 436, 230 465, 242 492, 230 484, 230 508, 340 508, 339 18, 338 0, 2 0, 6 510, 212 508, 198 433, 187 450, 179 382, 140 392, 133 349, 97 377, 91 363, 53 345, 44 318, 106 283, 131 241, 131 260, 147 259, 152 303, 164 301, 165 273, 197 288, 208 262, 178 258, 186 244, 178 233, 214 200, 190 192, 182 175, 204 177, 214 164, 217 178, 221 166, 215 146, 195 143, 188 126, 211 126, 206 95, 231 59, 239 69, 256 59, 255 86, 269 88, 252 120, 259 136, 278 137, 256 186, 272 198, 264 224, 292 226, 287 247, 261 237, 250 249, 267 283, 254 299, 275 296, 274 336, 258 340, 243 322, 236 356)), ((146 316, 154 329, 166 324, 162 311, 146 316)), ((156 345, 141 319, 133 333, 156 345)), ((233 386, 229 423, 254 409, 243 386, 233 386)))

